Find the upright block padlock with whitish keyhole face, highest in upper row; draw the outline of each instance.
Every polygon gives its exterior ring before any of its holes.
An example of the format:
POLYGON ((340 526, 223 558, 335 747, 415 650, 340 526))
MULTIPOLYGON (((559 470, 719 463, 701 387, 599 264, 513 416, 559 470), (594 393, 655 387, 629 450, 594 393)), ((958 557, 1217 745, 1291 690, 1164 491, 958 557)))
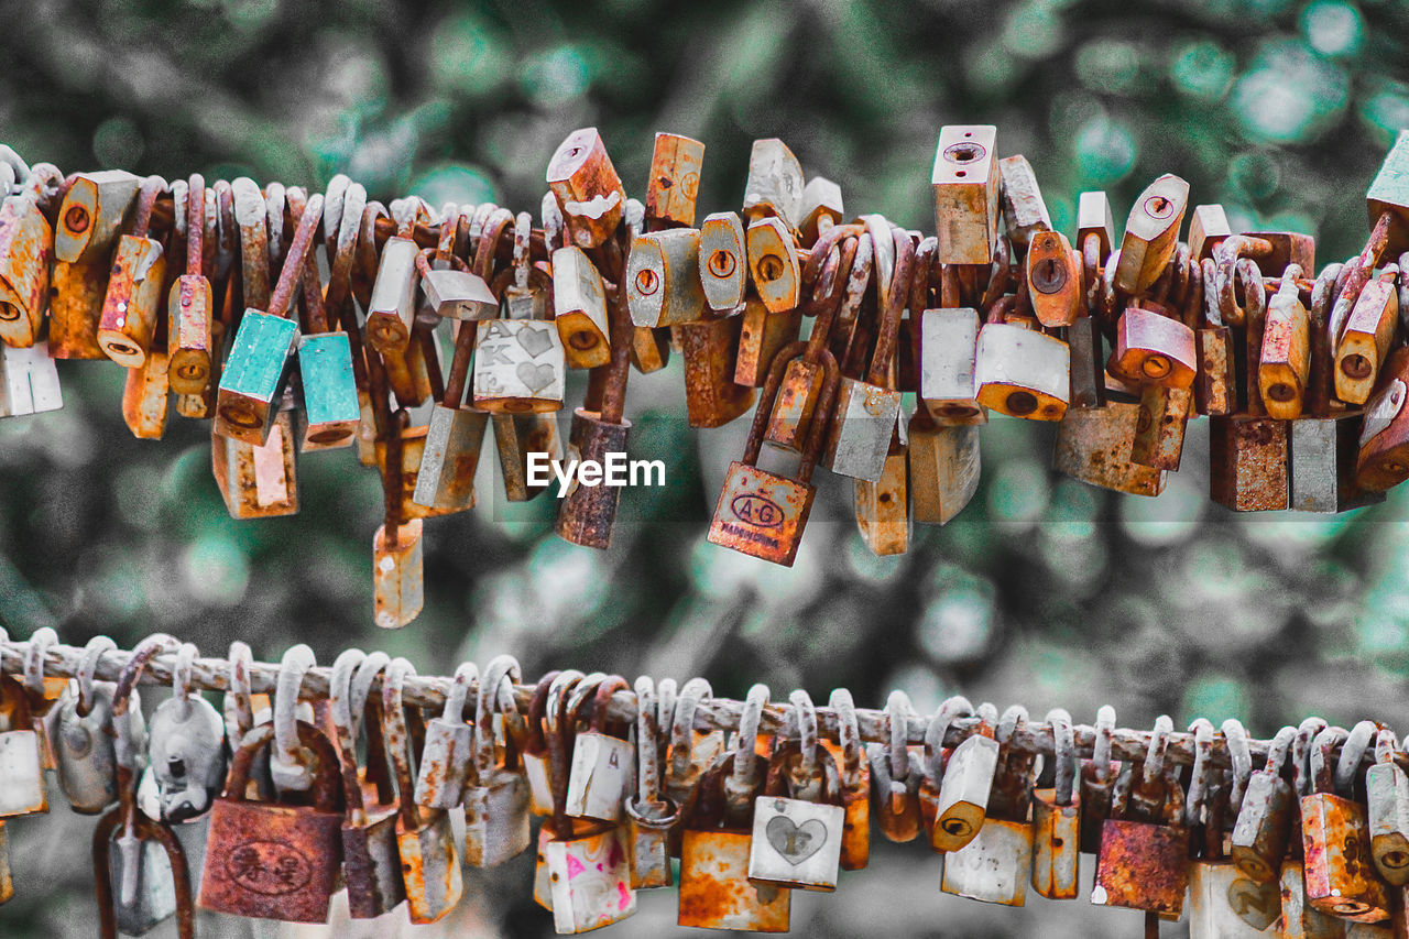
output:
POLYGON ((999 169, 992 125, 945 124, 934 154, 934 219, 940 264, 991 264, 999 220, 999 169))

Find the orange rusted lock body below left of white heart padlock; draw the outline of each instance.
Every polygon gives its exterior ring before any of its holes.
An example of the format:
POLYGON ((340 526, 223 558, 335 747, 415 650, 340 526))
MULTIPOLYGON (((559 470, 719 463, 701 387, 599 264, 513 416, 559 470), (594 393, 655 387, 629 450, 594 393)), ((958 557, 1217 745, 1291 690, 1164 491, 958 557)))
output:
POLYGON ((750 883, 751 842, 750 832, 685 830, 679 925, 788 932, 792 891, 750 883))

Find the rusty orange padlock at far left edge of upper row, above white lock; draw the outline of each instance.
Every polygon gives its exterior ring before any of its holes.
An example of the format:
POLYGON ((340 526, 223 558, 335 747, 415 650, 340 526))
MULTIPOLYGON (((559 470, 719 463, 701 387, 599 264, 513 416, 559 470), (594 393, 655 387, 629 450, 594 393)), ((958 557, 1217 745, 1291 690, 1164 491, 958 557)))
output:
POLYGON ((49 302, 54 228, 39 209, 59 171, 39 164, 18 195, 0 203, 0 343, 28 348, 38 341, 49 302))

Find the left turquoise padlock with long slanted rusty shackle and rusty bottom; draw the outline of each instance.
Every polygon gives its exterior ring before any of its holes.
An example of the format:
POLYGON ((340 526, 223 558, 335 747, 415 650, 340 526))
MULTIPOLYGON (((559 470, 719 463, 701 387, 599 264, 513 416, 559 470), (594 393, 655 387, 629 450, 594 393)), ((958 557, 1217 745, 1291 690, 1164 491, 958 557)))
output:
POLYGON ((323 195, 314 193, 303 210, 268 310, 245 309, 220 374, 214 430, 254 447, 269 441, 299 347, 299 323, 290 317, 294 286, 304 274, 304 257, 323 217, 323 195))

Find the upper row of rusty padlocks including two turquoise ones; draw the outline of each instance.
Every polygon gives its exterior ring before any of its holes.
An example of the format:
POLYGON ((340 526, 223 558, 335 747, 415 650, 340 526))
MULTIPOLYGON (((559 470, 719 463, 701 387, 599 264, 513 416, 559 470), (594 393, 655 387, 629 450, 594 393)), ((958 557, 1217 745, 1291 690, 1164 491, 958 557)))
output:
MULTIPOLYGON (((998 159, 988 125, 940 131, 931 237, 875 214, 844 221, 840 188, 805 183, 779 140, 755 141, 741 211, 696 227, 703 149, 657 134, 641 203, 596 130, 575 131, 534 227, 493 204, 411 197, 387 211, 345 176, 325 195, 65 178, 4 148, 0 413, 59 406, 52 358, 113 360, 128 368, 123 415, 138 437, 162 434, 172 398, 213 419, 235 517, 294 512, 296 453, 355 443, 383 475, 387 626, 420 608, 421 519, 473 505, 488 426, 507 498, 533 498, 530 454, 624 453, 630 368, 662 368, 672 344, 692 426, 758 402, 709 540, 781 564, 817 464, 855 479, 878 554, 905 551, 912 522, 954 517, 976 488, 989 410, 1060 422, 1058 470, 1150 496, 1179 467, 1188 417, 1206 415, 1210 495, 1236 510, 1339 512, 1409 477, 1409 351, 1396 351, 1409 285, 1391 262, 1409 250, 1409 134, 1370 188, 1364 251, 1319 275, 1310 235, 1231 234, 1172 175, 1138 196, 1119 238, 1105 193, 1082 193, 1069 241, 1027 159, 998 159), (571 368, 590 381, 565 448, 554 412, 571 368), (413 422, 427 403, 428 423, 413 422), (796 471, 761 468, 765 443, 796 471)), ((606 547, 617 499, 617 486, 575 486, 558 534, 606 547)))

